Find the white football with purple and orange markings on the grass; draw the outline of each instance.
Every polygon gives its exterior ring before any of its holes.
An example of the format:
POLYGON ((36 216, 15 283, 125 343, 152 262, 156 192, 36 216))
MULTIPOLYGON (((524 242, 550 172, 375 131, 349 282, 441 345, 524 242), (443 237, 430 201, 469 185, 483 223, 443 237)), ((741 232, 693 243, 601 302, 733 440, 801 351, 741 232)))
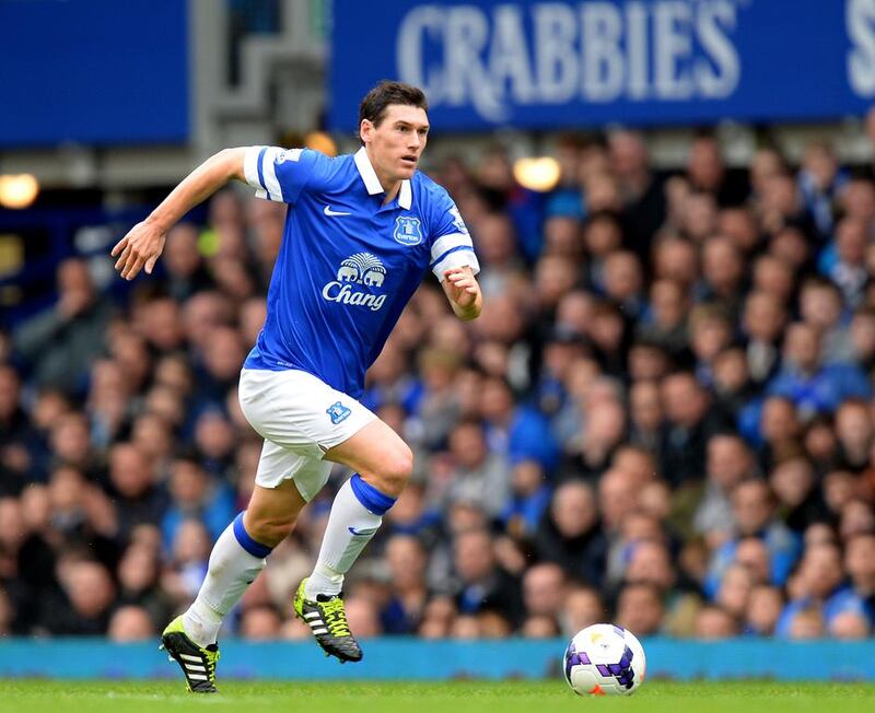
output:
POLYGON ((644 682, 645 669, 641 642, 615 624, 586 627, 565 648, 565 680, 579 696, 629 696, 644 682))

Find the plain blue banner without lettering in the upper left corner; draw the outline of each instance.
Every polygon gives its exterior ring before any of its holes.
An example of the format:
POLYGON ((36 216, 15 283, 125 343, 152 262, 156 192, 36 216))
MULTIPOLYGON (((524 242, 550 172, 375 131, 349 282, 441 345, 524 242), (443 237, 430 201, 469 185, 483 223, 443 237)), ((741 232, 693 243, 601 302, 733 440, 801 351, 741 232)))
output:
POLYGON ((0 0, 0 147, 184 142, 184 0, 0 0))

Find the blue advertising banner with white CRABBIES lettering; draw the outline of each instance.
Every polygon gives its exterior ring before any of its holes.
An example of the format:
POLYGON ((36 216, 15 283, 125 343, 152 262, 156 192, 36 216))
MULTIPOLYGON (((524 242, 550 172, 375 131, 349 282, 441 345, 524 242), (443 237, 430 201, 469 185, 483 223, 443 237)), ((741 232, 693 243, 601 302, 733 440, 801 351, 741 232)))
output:
POLYGON ((822 120, 875 98, 875 0, 336 0, 332 128, 378 80, 441 130, 822 120))

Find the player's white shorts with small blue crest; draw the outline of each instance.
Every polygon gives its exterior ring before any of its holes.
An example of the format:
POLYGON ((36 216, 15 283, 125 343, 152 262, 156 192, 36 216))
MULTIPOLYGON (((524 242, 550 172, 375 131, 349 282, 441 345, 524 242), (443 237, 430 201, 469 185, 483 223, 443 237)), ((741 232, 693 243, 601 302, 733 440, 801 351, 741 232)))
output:
POLYGON ((298 370, 244 369, 237 393, 246 420, 265 439, 256 484, 276 488, 292 479, 307 502, 331 471, 325 453, 376 418, 354 398, 298 370))

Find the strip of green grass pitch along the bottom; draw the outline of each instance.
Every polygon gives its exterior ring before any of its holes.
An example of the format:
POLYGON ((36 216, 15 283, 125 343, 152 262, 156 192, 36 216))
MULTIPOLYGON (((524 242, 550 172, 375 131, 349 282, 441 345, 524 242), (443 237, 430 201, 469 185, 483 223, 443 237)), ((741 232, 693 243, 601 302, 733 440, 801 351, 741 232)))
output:
POLYGON ((579 698, 564 681, 331 682, 220 681, 215 696, 182 683, 0 679, 0 713, 855 713, 875 711, 862 683, 668 683, 648 681, 630 698, 579 698))

